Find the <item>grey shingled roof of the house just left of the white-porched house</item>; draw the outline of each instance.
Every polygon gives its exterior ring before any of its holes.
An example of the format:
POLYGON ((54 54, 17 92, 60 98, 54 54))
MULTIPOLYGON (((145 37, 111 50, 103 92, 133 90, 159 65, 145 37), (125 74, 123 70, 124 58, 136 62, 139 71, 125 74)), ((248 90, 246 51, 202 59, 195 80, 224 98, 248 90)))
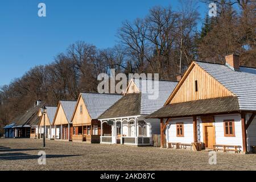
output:
POLYGON ((92 119, 97 119, 104 111, 117 102, 120 94, 81 93, 86 109, 92 119))

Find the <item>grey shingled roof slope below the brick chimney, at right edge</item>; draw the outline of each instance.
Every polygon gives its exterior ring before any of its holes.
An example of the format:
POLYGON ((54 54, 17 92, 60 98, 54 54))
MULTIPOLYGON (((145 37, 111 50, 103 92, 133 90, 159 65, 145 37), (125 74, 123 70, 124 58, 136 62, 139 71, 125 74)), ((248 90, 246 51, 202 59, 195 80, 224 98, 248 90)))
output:
POLYGON ((256 110, 256 68, 234 71, 222 64, 195 63, 238 97, 240 110, 256 110))

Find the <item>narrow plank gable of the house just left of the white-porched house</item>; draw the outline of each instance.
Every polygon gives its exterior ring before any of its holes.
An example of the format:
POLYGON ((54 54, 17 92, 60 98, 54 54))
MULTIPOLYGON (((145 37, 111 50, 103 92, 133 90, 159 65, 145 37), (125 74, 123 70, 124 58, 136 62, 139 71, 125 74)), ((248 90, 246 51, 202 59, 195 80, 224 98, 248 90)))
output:
POLYGON ((85 102, 82 99, 81 94, 77 101, 75 112, 73 114, 71 121, 73 123, 73 126, 90 125, 92 123, 92 118, 90 117, 90 114, 86 108, 85 102), (82 112, 80 112, 80 107, 82 107, 82 112))

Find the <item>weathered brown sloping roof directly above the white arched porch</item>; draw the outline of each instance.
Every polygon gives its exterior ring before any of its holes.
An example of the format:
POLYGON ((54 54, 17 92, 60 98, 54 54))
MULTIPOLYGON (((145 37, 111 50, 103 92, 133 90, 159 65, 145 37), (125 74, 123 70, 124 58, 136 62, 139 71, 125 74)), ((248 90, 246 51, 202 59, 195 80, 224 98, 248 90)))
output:
POLYGON ((130 93, 123 96, 109 107, 98 119, 129 117, 141 114, 141 93, 130 93))

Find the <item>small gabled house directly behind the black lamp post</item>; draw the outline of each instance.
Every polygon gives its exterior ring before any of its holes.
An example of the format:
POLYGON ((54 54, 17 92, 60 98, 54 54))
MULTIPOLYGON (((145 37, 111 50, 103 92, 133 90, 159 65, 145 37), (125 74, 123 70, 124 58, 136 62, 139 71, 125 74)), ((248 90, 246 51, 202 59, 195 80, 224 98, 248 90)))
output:
POLYGON ((41 134, 40 138, 43 138, 43 133, 45 130, 47 139, 55 139, 55 128, 52 125, 52 123, 55 117, 56 110, 57 110, 56 106, 46 106, 46 113, 45 114, 43 113, 41 115, 40 122, 39 122, 39 129, 41 134))

